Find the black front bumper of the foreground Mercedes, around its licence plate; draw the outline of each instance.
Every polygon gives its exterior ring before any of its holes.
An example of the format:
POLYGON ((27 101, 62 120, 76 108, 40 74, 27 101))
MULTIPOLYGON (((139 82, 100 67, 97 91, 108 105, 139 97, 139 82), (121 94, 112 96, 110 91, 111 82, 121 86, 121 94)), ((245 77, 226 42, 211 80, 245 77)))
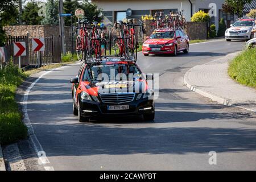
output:
POLYGON ((139 115, 154 113, 154 100, 147 98, 135 100, 125 104, 106 104, 88 100, 80 101, 83 117, 100 117, 102 115, 139 115), (129 110, 108 110, 108 106, 129 105, 129 110))

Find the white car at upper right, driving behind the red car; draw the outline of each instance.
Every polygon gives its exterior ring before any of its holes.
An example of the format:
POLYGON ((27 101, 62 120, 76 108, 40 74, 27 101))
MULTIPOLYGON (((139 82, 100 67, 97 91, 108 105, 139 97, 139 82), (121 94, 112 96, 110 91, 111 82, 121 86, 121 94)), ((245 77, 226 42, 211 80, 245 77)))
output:
POLYGON ((226 41, 231 40, 250 40, 253 39, 251 30, 254 27, 254 19, 239 19, 225 32, 226 41))

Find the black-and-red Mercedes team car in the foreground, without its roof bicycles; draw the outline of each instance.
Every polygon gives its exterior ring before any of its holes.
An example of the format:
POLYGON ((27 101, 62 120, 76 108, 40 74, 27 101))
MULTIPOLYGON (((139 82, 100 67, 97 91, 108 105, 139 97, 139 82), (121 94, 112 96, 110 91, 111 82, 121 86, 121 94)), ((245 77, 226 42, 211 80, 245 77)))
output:
POLYGON ((80 122, 106 115, 143 115, 155 118, 154 91, 133 61, 105 58, 82 64, 71 79, 73 114, 80 122))

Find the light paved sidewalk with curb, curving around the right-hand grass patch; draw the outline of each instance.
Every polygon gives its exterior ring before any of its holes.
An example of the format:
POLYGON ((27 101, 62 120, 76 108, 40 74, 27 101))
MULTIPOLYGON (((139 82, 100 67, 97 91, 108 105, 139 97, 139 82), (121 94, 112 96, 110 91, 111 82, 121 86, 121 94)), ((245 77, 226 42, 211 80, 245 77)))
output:
POLYGON ((238 84, 228 76, 232 53, 210 63, 191 68, 184 76, 189 89, 224 105, 234 105, 256 112, 256 90, 238 84))

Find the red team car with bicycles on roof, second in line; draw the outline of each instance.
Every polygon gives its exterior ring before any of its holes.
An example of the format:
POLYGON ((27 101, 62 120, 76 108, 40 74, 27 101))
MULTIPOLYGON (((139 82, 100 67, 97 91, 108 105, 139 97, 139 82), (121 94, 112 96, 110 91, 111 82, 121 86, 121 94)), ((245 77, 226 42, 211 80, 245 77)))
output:
POLYGON ((154 30, 150 37, 143 43, 142 51, 144 56, 149 54, 173 54, 189 51, 189 39, 181 29, 160 28, 154 30))

